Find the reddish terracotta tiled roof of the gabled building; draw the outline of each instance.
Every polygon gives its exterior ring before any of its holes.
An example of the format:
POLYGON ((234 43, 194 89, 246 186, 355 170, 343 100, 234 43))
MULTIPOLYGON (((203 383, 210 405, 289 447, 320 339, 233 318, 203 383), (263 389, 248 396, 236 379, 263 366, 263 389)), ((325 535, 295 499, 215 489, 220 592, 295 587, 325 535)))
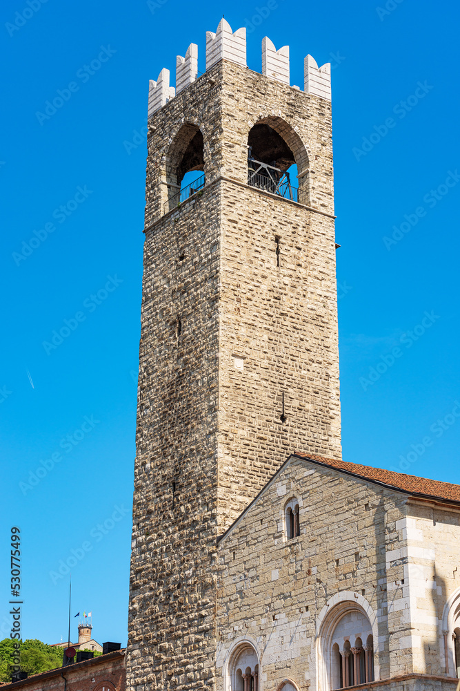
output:
POLYGON ((383 468, 361 466, 358 463, 341 461, 337 458, 324 458, 312 453, 294 453, 294 455, 299 458, 310 459, 324 466, 335 468, 336 470, 346 471, 346 473, 357 475, 357 477, 363 477, 364 480, 386 484, 406 494, 443 501, 460 502, 460 485, 458 484, 439 482, 439 480, 427 480, 426 477, 395 473, 394 471, 383 470, 383 468))

